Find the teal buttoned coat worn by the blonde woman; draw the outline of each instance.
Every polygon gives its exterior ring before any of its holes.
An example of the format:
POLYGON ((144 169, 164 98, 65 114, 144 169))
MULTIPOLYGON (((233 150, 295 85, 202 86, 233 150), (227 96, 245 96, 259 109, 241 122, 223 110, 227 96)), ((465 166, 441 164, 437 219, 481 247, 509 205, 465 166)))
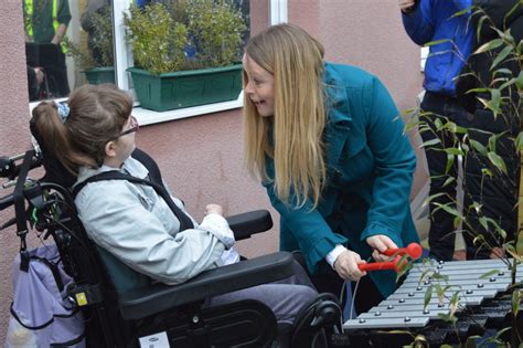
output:
MULTIPOLYGON (((416 157, 391 95, 375 76, 349 65, 327 63, 324 83, 328 181, 319 205, 284 204, 267 184, 280 213, 280 249, 301 250, 311 272, 335 244, 366 260, 367 236, 385 234, 397 245, 418 241, 409 209, 416 157)), ((274 177, 270 159, 267 173, 274 177)), ((384 296, 394 289, 393 272, 370 276, 384 296)))

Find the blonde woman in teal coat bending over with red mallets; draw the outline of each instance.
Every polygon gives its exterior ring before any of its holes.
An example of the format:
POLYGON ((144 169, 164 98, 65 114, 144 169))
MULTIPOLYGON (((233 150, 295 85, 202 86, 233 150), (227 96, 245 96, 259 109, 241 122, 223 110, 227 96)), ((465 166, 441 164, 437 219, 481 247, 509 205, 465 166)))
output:
MULTIPOLYGON (((387 89, 373 75, 323 61, 305 30, 274 25, 245 49, 245 156, 280 213, 280 249, 299 250, 319 292, 359 281, 356 312, 395 286, 359 264, 418 241, 409 192, 415 155, 387 89)), ((354 284, 354 283, 353 283, 354 284)))

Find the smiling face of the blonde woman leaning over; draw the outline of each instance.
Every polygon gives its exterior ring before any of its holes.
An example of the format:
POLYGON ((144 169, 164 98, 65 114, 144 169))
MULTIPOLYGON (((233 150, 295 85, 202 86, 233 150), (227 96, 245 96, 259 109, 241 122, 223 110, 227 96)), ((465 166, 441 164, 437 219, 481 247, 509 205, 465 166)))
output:
POLYGON ((275 78, 273 74, 256 64, 247 54, 244 55, 243 65, 247 75, 244 93, 256 106, 259 116, 275 115, 275 78))

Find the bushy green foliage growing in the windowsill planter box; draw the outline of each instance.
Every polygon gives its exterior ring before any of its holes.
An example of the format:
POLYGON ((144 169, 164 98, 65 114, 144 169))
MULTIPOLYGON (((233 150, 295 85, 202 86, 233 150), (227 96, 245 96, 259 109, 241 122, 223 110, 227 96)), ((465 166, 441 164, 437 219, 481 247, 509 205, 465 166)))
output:
POLYGON ((242 14, 226 0, 172 0, 125 13, 137 66, 156 74, 217 67, 239 61, 242 14), (185 50, 194 48, 194 57, 185 50))

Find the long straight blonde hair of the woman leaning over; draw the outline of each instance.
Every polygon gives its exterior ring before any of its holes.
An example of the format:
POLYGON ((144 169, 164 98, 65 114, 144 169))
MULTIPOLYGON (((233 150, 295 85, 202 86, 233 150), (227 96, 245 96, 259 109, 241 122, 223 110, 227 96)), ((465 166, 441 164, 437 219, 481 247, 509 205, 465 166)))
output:
POLYGON ((244 97, 246 166, 265 182, 274 180, 277 197, 297 207, 308 200, 317 207, 325 181, 323 52, 320 42, 291 24, 269 27, 245 48, 246 55, 273 74, 275 93, 270 118, 260 117, 244 97), (266 156, 274 158, 274 178, 267 175, 266 156))

